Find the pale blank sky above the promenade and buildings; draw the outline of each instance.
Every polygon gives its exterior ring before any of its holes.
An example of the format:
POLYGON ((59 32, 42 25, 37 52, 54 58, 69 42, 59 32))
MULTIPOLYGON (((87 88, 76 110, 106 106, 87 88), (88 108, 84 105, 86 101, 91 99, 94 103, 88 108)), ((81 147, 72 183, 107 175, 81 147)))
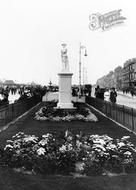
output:
POLYGON ((136 57, 135 0, 0 0, 0 79, 58 84, 66 43, 72 83, 79 83, 79 44, 86 80, 97 79, 136 57), (123 25, 90 30, 89 16, 121 9, 123 25))

